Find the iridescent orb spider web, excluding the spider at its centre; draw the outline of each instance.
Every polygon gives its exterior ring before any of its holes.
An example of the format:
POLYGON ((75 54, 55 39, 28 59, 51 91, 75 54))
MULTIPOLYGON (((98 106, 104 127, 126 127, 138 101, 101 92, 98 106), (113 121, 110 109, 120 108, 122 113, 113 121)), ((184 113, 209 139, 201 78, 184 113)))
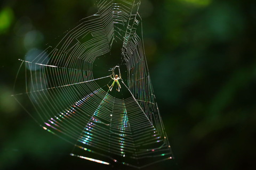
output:
POLYGON ((71 156, 138 168, 172 159, 145 58, 140 1, 96 4, 98 12, 56 46, 20 60, 25 89, 13 96, 27 112, 33 106, 30 115, 44 130, 74 145, 71 156), (108 88, 113 73, 122 75, 120 92, 108 88))

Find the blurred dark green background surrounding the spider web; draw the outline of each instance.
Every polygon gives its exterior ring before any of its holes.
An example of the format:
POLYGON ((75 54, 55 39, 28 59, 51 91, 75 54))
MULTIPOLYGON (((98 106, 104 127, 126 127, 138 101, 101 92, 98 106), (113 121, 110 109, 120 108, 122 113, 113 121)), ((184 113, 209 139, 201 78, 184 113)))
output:
MULTIPOLYGON (((1 1, 0 169, 104 169, 68 156, 12 95, 20 62, 95 12, 93 1, 1 1)), ((256 1, 141 0, 145 50, 175 159, 148 169, 253 169, 256 1)))

